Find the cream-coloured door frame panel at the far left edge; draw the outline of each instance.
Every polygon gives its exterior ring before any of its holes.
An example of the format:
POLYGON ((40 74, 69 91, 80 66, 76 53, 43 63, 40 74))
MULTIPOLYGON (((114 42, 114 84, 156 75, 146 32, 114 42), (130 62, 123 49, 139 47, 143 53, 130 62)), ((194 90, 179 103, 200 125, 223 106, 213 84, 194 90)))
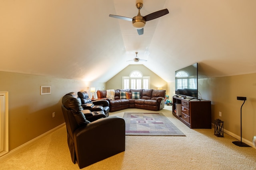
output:
POLYGON ((0 92, 0 156, 9 152, 8 92, 0 92))

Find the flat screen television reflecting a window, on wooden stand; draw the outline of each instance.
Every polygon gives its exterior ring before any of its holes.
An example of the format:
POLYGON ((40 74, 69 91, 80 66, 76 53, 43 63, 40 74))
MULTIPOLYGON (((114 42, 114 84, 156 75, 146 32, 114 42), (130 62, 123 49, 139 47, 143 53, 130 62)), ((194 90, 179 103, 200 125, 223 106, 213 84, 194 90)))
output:
POLYGON ((198 98, 198 63, 175 71, 175 94, 198 98))

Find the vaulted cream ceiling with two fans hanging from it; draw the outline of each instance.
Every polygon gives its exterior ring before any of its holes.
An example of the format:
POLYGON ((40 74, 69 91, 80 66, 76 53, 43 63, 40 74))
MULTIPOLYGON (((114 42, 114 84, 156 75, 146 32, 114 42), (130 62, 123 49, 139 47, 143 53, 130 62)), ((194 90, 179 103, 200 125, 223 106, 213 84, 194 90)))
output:
MULTIPOLYGON (((142 0, 137 0, 137 2, 142 0)), ((167 8, 138 35, 136 0, 0 0, 0 70, 106 82, 144 64, 167 82, 199 63, 208 77, 256 72, 255 0, 143 0, 167 8), (134 63, 135 52, 147 62, 134 63)))

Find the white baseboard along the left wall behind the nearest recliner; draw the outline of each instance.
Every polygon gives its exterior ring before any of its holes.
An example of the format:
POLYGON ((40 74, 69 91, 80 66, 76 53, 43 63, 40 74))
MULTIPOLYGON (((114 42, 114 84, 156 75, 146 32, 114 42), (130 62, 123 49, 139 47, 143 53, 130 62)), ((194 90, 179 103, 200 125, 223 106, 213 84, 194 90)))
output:
POLYGON ((0 156, 0 161, 9 158, 10 156, 12 156, 13 154, 17 153, 18 151, 20 151, 21 149, 23 149, 24 147, 28 147, 29 145, 32 145, 34 143, 36 143, 37 141, 39 141, 40 139, 42 139, 43 137, 45 137, 46 135, 49 135, 50 133, 60 129, 61 127, 63 127, 64 125, 66 125, 66 123, 62 123, 61 125, 58 125, 57 127, 55 127, 54 129, 51 129, 50 131, 32 139, 31 141, 28 141, 27 143, 24 143, 23 145, 20 145, 19 147, 7 152, 6 154, 0 156))

